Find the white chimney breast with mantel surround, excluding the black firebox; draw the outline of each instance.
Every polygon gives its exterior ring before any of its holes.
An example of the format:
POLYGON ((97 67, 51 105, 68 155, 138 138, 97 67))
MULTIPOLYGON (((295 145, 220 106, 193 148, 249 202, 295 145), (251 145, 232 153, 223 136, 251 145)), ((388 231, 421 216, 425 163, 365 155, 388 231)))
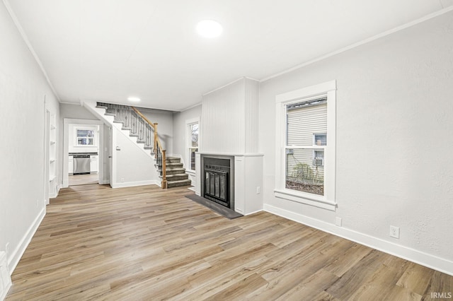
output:
MULTIPOLYGON (((200 152, 195 154, 197 196, 202 196, 201 156, 234 158, 234 211, 263 210, 263 154, 258 153, 259 82, 239 78, 203 95, 200 152)), ((204 177, 204 175, 203 175, 204 177)))

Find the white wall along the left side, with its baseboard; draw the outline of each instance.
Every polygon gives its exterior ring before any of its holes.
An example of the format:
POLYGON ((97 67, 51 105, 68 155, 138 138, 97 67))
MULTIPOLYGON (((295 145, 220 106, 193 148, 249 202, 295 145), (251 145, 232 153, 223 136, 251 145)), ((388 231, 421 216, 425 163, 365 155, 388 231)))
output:
POLYGON ((3 2, 0 37, 0 251, 12 273, 45 214, 45 95, 57 120, 59 102, 3 2))

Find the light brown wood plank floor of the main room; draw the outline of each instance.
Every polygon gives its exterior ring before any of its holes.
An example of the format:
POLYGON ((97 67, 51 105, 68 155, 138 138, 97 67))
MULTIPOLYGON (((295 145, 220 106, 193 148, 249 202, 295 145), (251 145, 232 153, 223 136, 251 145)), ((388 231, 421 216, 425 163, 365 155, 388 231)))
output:
POLYGON ((430 300, 453 292, 444 273, 270 213, 228 220, 188 194, 62 189, 6 300, 430 300))

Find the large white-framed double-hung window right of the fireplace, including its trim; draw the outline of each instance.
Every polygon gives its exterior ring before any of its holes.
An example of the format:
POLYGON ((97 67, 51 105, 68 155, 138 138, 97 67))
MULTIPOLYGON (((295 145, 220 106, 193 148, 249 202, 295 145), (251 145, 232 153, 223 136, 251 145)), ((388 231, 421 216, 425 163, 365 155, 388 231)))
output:
POLYGON ((275 196, 335 210, 336 82, 277 95, 275 196))

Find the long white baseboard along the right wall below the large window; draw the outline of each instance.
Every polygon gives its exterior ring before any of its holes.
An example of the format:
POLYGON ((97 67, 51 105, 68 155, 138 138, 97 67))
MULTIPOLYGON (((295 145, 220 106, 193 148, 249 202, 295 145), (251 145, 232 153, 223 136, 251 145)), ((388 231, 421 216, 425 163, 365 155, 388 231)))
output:
POLYGON ((268 204, 264 204, 264 211, 273 213, 277 216, 282 216, 283 218, 287 218, 289 220, 294 220, 295 222, 308 225, 310 227, 331 233, 339 237, 343 237, 346 240, 352 240, 352 242, 363 244, 367 247, 377 249, 384 253, 388 253, 402 259, 412 261, 415 264, 420 264, 422 266, 426 266, 428 268, 435 269, 436 271, 440 271, 442 273, 453 276, 453 261, 427 254, 425 252, 420 252, 410 247, 401 246, 399 244, 395 244, 394 242, 389 242, 377 237, 372 237, 361 232, 338 227, 336 225, 323 222, 322 220, 316 220, 314 218, 309 218, 308 216, 302 216, 302 214, 287 211, 285 209, 268 204))

